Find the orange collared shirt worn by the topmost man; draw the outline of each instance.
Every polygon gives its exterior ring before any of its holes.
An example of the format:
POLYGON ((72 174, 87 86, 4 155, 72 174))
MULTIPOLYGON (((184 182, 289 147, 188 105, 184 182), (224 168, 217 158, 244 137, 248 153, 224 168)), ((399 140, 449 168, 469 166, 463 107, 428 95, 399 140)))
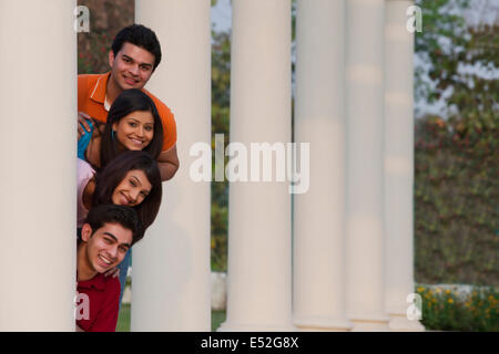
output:
MULTIPOLYGON (((105 123, 108 111, 104 108, 105 87, 111 73, 78 75, 78 112, 84 112, 92 118, 105 123)), ((163 152, 176 143, 176 124, 172 111, 147 90, 142 88, 156 105, 163 122, 163 152)))

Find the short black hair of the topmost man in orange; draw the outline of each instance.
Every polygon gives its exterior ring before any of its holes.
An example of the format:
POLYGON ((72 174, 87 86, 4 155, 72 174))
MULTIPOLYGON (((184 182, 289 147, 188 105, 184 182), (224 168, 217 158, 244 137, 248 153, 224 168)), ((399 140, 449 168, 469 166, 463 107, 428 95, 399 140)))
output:
POLYGON ((125 27, 118 32, 113 40, 113 44, 111 45, 114 56, 118 55, 118 52, 122 49, 125 42, 143 48, 153 54, 153 72, 156 70, 161 62, 161 45, 154 31, 142 24, 130 24, 125 27))

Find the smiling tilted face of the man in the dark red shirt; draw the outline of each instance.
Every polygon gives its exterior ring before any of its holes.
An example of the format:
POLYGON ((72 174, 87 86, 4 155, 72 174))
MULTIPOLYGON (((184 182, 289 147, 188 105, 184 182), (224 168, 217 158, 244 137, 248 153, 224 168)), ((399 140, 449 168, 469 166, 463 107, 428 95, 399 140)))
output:
POLYGON ((108 222, 92 233, 90 225, 85 223, 82 240, 86 243, 86 267, 92 272, 104 273, 123 261, 132 244, 132 231, 120 223, 108 222))

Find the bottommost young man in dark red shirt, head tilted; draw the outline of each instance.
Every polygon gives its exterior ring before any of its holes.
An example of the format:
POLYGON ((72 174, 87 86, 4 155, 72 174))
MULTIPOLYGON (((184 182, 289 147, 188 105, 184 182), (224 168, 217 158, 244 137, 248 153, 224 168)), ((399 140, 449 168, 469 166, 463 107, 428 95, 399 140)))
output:
POLYGON ((104 277, 142 237, 131 207, 101 205, 89 211, 77 251, 77 331, 114 332, 120 281, 104 277))

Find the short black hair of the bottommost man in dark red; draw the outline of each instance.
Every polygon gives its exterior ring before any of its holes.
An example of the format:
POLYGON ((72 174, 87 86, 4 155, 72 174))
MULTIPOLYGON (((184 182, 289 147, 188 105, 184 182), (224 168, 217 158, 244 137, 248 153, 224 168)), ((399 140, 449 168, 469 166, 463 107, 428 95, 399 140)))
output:
POLYGON ((92 235, 105 223, 119 223, 132 231, 132 244, 141 239, 142 225, 135 210, 126 206, 113 204, 100 205, 90 209, 85 223, 92 228, 92 235))

